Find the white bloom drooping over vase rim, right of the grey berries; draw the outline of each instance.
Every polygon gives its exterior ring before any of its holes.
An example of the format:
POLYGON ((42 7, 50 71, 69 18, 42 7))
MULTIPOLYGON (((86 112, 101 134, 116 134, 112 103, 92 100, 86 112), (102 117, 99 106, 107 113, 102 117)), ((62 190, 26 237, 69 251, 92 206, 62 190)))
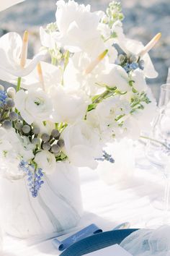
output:
POLYGON ((65 142, 63 152, 75 166, 96 168, 95 158, 102 156, 102 145, 96 129, 92 129, 86 121, 68 125, 61 134, 65 142))

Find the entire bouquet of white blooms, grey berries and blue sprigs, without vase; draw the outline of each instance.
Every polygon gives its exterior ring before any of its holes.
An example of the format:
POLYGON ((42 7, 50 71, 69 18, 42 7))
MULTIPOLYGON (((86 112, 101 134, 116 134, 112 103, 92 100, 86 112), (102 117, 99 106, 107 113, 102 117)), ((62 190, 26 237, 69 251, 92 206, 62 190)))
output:
POLYGON ((10 178, 28 176, 33 197, 56 162, 114 162, 102 150, 106 143, 138 138, 143 108, 151 121, 156 102, 146 77, 157 72, 148 51, 161 34, 143 46, 125 37, 122 20, 117 1, 104 13, 59 0, 56 21, 40 27, 42 48, 32 60, 27 31, 23 40, 17 33, 0 38, 0 79, 17 86, 0 87, 0 154, 3 163, 19 166, 10 178), (42 61, 45 54, 51 64, 42 61))

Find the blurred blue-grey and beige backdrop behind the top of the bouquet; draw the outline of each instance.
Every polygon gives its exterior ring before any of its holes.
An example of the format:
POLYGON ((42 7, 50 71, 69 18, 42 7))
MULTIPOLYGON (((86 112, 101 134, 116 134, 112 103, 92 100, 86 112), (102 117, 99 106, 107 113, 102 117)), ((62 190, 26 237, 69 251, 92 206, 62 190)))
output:
MULTIPOLYGON (((5 0, 0 0, 5 1, 5 0)), ((55 21, 56 0, 26 0, 0 14, 0 35, 15 31, 22 35, 29 30, 30 56, 40 47, 39 27, 55 21)), ((78 0, 91 4, 92 10, 106 9, 109 0, 78 0)), ((156 33, 162 38, 151 50, 151 59, 158 71, 158 77, 148 80, 153 94, 158 98, 160 85, 166 82, 170 67, 170 0, 122 0, 125 34, 132 39, 148 43, 156 33)), ((1 56, 0 56, 1 57, 1 56)))

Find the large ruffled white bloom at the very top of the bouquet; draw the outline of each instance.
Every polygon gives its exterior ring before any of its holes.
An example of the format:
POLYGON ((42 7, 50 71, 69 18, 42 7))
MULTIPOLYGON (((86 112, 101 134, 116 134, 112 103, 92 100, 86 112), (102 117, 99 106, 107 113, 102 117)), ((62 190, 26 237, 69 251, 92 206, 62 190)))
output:
POLYGON ((98 25, 103 12, 91 12, 90 6, 69 0, 57 1, 56 23, 59 35, 55 40, 71 52, 86 51, 91 41, 101 37, 98 25), (79 38, 79 40, 77 40, 79 38))

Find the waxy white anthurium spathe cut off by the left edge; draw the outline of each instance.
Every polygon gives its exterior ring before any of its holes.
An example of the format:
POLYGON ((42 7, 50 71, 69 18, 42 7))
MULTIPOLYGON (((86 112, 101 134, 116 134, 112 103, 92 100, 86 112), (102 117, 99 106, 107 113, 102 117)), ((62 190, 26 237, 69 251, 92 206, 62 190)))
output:
POLYGON ((26 61, 21 67, 20 56, 22 53, 22 38, 17 33, 7 33, 0 38, 0 78, 9 81, 14 77, 24 77, 30 74, 40 62, 46 51, 35 55, 31 61, 26 61))

